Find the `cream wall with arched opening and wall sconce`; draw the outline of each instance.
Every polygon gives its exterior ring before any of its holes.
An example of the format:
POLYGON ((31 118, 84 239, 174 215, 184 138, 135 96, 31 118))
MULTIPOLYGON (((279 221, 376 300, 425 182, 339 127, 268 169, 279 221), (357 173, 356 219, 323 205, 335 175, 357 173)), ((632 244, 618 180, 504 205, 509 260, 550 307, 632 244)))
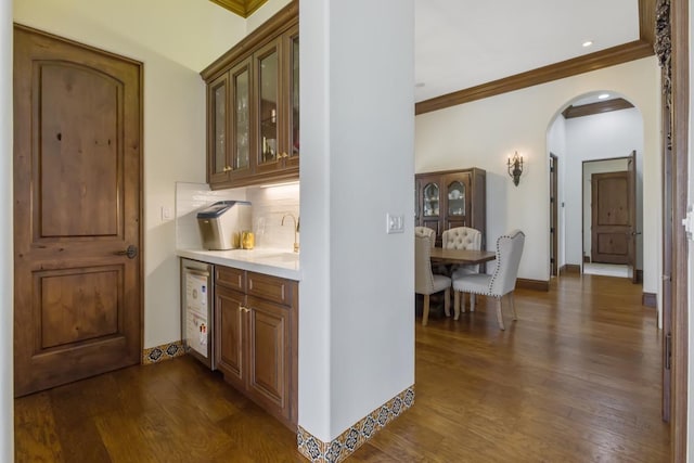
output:
POLYGON ((658 293, 660 274, 660 90, 655 57, 573 76, 480 101, 423 114, 415 120, 415 171, 480 167, 487 170, 487 242, 519 228, 526 245, 518 274, 549 280, 548 129, 575 97, 600 89, 625 95, 643 115, 643 291, 658 293), (506 158, 526 159, 514 187, 506 158))

